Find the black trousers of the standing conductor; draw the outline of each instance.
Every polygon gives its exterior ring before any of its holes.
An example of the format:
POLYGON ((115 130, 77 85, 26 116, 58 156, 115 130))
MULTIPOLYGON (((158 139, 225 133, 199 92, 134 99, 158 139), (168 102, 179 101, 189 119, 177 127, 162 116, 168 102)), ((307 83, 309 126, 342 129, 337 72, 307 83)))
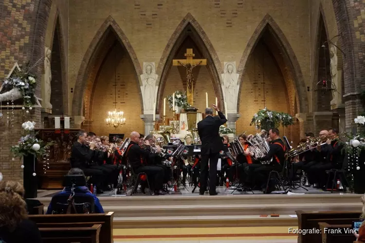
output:
POLYGON ((216 193, 216 181, 217 181, 217 163, 219 159, 219 153, 201 155, 201 174, 200 174, 200 193, 206 191, 208 169, 209 169, 209 193, 216 193), (208 168, 209 162, 209 168, 208 168))

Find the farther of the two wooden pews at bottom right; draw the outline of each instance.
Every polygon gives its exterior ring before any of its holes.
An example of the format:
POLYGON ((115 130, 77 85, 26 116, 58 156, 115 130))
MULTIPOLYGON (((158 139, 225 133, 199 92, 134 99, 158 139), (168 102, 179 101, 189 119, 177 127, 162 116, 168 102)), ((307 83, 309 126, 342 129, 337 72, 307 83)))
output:
MULTIPOLYGON (((298 229, 320 229, 318 223, 329 225, 351 225, 360 219, 361 211, 295 211, 298 216, 298 229)), ((298 234, 298 243, 321 243, 322 235, 298 234)))

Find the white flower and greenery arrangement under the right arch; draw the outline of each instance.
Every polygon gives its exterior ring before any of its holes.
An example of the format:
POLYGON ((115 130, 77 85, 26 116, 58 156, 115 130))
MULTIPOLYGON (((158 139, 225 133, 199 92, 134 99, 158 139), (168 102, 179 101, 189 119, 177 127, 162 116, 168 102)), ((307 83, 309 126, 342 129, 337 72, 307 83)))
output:
POLYGON ((256 129, 269 131, 270 128, 279 127, 280 125, 287 127, 294 124, 294 121, 292 116, 287 113, 271 111, 265 107, 255 113, 250 126, 253 124, 256 125, 256 129))

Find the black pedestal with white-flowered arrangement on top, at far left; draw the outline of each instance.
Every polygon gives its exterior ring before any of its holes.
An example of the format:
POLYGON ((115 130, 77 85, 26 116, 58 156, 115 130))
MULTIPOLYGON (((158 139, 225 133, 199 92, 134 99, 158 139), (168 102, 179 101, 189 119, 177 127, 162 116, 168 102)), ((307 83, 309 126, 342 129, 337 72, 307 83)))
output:
MULTIPOLYGON (((10 148, 14 157, 23 158, 23 185, 24 198, 37 197, 37 174, 36 174, 36 159, 45 153, 47 147, 53 143, 44 144, 40 139, 37 139, 34 133, 36 122, 26 121, 21 126, 24 130, 24 135, 18 140, 18 144, 10 148)), ((13 161, 15 159, 13 158, 13 161)))

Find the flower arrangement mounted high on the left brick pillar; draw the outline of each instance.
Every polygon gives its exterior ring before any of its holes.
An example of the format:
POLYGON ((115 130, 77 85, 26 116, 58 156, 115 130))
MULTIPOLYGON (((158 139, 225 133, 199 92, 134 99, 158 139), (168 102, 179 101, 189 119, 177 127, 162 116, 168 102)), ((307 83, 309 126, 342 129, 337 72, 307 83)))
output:
POLYGON ((29 64, 26 65, 24 70, 19 71, 14 69, 13 74, 4 80, 2 88, 10 90, 3 93, 1 97, 2 101, 18 100, 23 98, 23 109, 32 106, 32 98, 36 91, 36 76, 30 72, 29 64))

